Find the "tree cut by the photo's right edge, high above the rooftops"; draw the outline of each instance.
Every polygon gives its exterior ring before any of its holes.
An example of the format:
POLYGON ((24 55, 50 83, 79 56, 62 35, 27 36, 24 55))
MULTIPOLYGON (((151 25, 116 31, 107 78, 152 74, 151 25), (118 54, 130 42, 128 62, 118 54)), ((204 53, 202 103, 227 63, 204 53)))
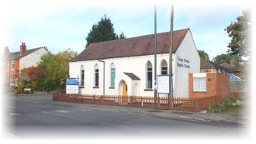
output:
POLYGON ((226 29, 228 35, 232 38, 228 43, 228 53, 238 55, 239 57, 248 57, 251 54, 251 14, 249 9, 243 12, 243 15, 237 17, 237 22, 231 22, 226 29))

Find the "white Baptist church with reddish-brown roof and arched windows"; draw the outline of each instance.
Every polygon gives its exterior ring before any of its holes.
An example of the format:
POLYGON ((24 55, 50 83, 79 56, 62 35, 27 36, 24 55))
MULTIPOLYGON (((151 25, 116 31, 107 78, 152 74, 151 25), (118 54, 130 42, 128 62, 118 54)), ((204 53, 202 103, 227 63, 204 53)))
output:
MULTIPOLYGON (((170 33, 157 33, 157 75, 168 74, 170 33)), ((174 32, 173 96, 189 97, 189 74, 200 73, 190 29, 174 32)), ((71 60, 80 94, 154 97, 154 34, 92 43, 71 60)), ((164 96, 162 94, 162 96, 164 96)))

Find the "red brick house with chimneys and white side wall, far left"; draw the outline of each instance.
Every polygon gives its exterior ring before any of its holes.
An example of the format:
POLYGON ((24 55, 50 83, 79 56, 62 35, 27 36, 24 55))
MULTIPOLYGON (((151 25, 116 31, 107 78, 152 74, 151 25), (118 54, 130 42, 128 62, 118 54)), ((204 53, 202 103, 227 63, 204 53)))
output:
POLYGON ((17 87, 20 70, 36 66, 43 54, 48 53, 47 46, 26 50, 22 43, 18 52, 11 53, 5 46, 2 68, 2 83, 5 86, 17 87))

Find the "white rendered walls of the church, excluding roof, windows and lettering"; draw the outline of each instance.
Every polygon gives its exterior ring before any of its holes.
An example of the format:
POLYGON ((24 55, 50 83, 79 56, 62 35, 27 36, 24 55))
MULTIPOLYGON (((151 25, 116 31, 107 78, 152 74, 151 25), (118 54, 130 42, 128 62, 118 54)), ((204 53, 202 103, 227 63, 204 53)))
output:
MULTIPOLYGON (((174 97, 189 97, 189 74, 200 72, 200 59, 197 53, 195 43, 192 39, 191 33, 187 33, 185 39, 181 43, 180 47, 173 57, 173 80, 174 80, 174 97), (189 65, 189 68, 178 67, 178 57, 185 60, 189 60, 189 63, 182 64, 189 65)), ((161 61, 166 60, 169 65, 169 54, 157 54, 157 75, 161 74, 161 61)), ((122 88, 120 82, 125 81, 127 84, 128 95, 134 95, 137 93, 140 96, 154 96, 154 55, 140 56, 140 57, 122 57, 111 58, 103 60, 105 61, 105 94, 106 95, 119 95, 122 94, 122 88), (152 64, 153 81, 152 91, 145 91, 146 89, 146 64, 147 61, 152 64), (114 63, 116 67, 116 80, 115 88, 110 87, 110 65, 114 63), (140 81, 133 81, 130 77, 126 76, 126 73, 133 73, 140 77, 140 81), (137 91, 134 91, 134 86, 137 84, 137 91)), ((103 94, 103 63, 99 60, 87 60, 70 63, 70 77, 80 78, 80 67, 85 67, 85 87, 81 89, 81 94, 103 94), (95 84, 94 67, 95 64, 99 67, 99 88, 93 88, 95 84)), ((169 68, 168 68, 169 70, 169 68)), ((161 94, 166 95, 166 94, 161 94)))

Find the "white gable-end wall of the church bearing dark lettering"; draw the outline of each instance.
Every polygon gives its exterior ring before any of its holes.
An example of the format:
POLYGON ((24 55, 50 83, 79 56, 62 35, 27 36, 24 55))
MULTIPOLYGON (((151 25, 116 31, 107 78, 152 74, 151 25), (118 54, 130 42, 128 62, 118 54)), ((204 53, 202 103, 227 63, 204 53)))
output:
POLYGON ((200 58, 190 31, 176 51, 174 61, 174 97, 189 97, 189 74, 200 73, 200 58))

